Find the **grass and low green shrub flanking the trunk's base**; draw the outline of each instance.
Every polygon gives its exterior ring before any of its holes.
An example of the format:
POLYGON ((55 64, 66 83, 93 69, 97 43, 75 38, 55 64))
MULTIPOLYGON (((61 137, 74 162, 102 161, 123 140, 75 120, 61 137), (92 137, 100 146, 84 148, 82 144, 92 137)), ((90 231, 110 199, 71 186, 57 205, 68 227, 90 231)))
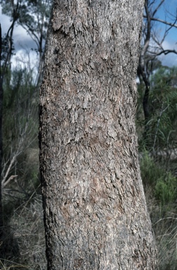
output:
MULTIPOLYGON (((141 155, 140 167, 157 242, 159 270, 176 270, 176 177, 157 165, 146 152, 141 155)), ((8 204, 4 228, 6 252, 1 256, 0 269, 46 270, 41 195, 34 189, 29 197, 20 199, 20 205, 13 204, 13 211, 10 211, 11 207, 8 204)))

